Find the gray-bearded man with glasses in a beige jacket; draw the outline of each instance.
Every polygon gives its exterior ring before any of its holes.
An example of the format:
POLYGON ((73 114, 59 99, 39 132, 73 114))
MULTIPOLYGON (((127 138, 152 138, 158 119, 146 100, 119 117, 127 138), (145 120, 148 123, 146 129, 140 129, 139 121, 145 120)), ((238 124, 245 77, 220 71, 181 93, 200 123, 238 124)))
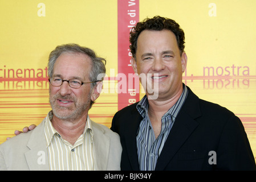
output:
POLYGON ((119 135, 91 121, 105 60, 78 44, 50 53, 50 111, 33 131, 0 145, 0 170, 119 170, 119 135))

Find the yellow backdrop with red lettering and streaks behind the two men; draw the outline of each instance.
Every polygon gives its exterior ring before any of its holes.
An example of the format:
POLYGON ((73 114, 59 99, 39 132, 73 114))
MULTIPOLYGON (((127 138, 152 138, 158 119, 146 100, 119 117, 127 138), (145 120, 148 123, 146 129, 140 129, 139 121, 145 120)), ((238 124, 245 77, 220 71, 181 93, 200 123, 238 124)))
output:
MULTIPOLYGON (((188 55, 185 84, 241 118, 256 156, 256 1, 130 2, 139 2, 140 20, 161 15, 180 24, 188 55)), ((0 16, 0 143, 50 111, 47 58, 56 46, 90 47, 107 60, 107 75, 117 74, 116 0, 2 0, 0 16)), ((110 127, 117 102, 116 92, 102 93, 92 120, 110 127)))

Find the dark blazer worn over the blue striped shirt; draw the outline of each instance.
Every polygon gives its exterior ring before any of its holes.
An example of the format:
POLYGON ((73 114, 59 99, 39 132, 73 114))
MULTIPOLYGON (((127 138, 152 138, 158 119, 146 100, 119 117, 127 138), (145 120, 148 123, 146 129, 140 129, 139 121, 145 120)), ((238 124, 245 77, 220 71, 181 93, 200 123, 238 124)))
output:
MULTIPOLYGON (((155 170, 256 170, 240 119, 188 90, 155 170)), ((136 134, 142 117, 136 105, 118 111, 112 120, 111 129, 120 135, 123 147, 121 170, 140 169, 136 134)))

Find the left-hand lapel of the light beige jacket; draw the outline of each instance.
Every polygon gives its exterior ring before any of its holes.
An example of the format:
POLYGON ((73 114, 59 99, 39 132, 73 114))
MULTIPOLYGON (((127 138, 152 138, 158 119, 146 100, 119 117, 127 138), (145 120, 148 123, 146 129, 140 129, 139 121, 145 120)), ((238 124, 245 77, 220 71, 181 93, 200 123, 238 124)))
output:
POLYGON ((44 136, 44 122, 40 123, 34 130, 30 131, 30 139, 25 152, 25 157, 30 170, 49 170, 46 139, 44 136))

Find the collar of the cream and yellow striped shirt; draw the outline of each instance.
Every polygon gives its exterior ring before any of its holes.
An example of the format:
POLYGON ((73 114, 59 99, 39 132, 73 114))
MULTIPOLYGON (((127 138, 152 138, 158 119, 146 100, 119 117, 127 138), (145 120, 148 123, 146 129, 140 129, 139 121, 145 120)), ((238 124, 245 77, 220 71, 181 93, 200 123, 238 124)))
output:
MULTIPOLYGON (((47 114, 46 118, 44 118, 44 120, 45 120, 45 123, 44 123, 44 134, 46 135, 47 147, 50 145, 54 135, 56 135, 57 137, 60 137, 60 134, 58 133, 58 131, 56 131, 54 129, 54 127, 52 126, 52 123, 51 123, 52 117, 53 117, 53 113, 52 113, 52 111, 50 111, 47 114)), ((83 137, 86 134, 86 132, 89 132, 90 136, 91 136, 91 142, 92 142, 93 137, 94 137, 94 131, 92 130, 91 126, 92 126, 91 125, 91 119, 90 119, 89 115, 87 115, 87 121, 86 121, 86 126, 84 127, 83 137)))

